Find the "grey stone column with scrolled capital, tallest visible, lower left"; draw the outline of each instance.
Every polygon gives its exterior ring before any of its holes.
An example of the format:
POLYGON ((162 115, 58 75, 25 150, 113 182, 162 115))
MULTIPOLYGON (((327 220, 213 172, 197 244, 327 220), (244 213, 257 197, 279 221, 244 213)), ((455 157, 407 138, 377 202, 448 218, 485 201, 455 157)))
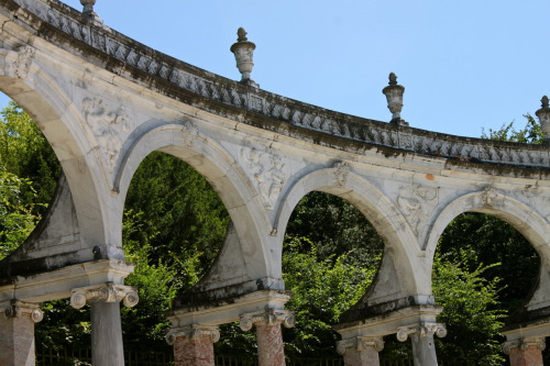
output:
POLYGON ((90 304, 91 310, 91 362, 101 366, 123 366, 122 325, 120 304, 134 307, 138 292, 134 288, 107 282, 73 289, 70 306, 76 309, 90 304))

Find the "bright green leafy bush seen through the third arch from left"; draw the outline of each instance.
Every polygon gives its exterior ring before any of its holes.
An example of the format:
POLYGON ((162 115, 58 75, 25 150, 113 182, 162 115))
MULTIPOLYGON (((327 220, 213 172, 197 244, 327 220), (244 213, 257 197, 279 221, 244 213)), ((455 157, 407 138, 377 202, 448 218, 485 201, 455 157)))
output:
POLYGON ((319 256, 308 239, 289 239, 283 254, 283 278, 293 291, 286 308, 296 313, 297 326, 286 332, 289 355, 333 356, 337 335, 331 325, 365 292, 376 266, 349 263, 352 252, 319 256))

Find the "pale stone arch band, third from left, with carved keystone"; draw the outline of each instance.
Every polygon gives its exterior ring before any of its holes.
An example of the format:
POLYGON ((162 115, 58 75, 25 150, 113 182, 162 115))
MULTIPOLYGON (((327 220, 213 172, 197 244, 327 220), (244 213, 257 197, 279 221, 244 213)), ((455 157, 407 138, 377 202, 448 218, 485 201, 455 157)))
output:
POLYGON ((363 177, 351 171, 346 173, 345 179, 341 177, 339 168, 319 169, 301 177, 286 193, 277 213, 276 226, 286 228, 294 208, 310 191, 338 196, 358 208, 384 239, 386 253, 392 254, 395 267, 399 268, 396 279, 402 290, 408 295, 429 295, 424 286, 426 271, 415 270, 415 258, 421 257, 422 252, 399 210, 363 177))

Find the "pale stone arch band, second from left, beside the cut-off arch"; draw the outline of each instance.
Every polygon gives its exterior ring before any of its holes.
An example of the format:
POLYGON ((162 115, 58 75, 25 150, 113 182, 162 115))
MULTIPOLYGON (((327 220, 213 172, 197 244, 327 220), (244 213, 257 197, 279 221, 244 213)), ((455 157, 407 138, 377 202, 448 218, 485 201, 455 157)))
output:
POLYGON ((194 123, 150 121, 130 135, 121 149, 113 185, 122 201, 139 165, 155 151, 180 158, 210 182, 231 217, 234 230, 230 230, 229 235, 238 236, 248 275, 251 278, 268 276, 272 273, 265 243, 271 229, 268 221, 255 204, 245 175, 233 157, 194 123))

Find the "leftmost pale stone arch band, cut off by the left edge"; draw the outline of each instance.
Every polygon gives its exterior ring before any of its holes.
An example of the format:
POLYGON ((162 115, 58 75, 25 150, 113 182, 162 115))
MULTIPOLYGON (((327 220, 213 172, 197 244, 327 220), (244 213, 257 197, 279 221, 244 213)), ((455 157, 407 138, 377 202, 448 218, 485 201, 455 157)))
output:
POLYGON ((86 123, 59 82, 41 68, 35 49, 0 49, 0 90, 20 104, 42 130, 67 178, 79 223, 77 262, 91 260, 94 246, 105 257, 123 259, 110 222, 109 196, 99 158, 88 138, 86 123))

